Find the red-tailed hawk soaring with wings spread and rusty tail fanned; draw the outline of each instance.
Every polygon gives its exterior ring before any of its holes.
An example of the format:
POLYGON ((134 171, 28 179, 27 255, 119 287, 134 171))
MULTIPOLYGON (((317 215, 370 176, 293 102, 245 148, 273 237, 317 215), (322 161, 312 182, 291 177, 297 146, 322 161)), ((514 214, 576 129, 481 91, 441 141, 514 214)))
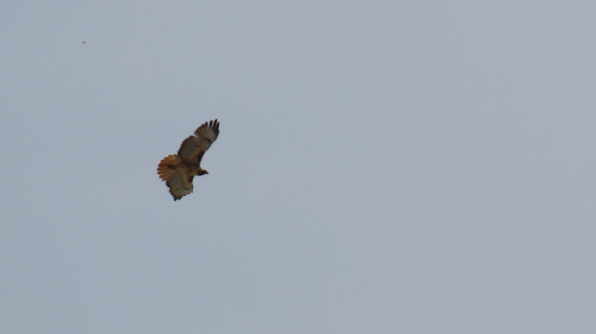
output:
POLYGON ((182 141, 177 155, 169 155, 157 165, 157 174, 166 181, 174 200, 179 200, 193 192, 195 175, 209 174, 201 168, 201 159, 213 141, 218 138, 219 122, 205 122, 190 136, 182 141))

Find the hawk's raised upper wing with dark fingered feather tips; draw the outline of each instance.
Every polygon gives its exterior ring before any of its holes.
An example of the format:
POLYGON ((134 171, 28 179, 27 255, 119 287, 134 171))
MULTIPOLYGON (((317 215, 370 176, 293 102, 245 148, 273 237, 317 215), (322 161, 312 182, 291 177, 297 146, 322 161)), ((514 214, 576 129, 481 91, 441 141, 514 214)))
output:
POLYGON ((200 165, 203 155, 213 144, 213 141, 218 138, 218 135, 218 120, 205 122, 197 128, 197 131, 194 131, 194 136, 182 141, 180 149, 178 149, 178 156, 183 162, 200 165))

